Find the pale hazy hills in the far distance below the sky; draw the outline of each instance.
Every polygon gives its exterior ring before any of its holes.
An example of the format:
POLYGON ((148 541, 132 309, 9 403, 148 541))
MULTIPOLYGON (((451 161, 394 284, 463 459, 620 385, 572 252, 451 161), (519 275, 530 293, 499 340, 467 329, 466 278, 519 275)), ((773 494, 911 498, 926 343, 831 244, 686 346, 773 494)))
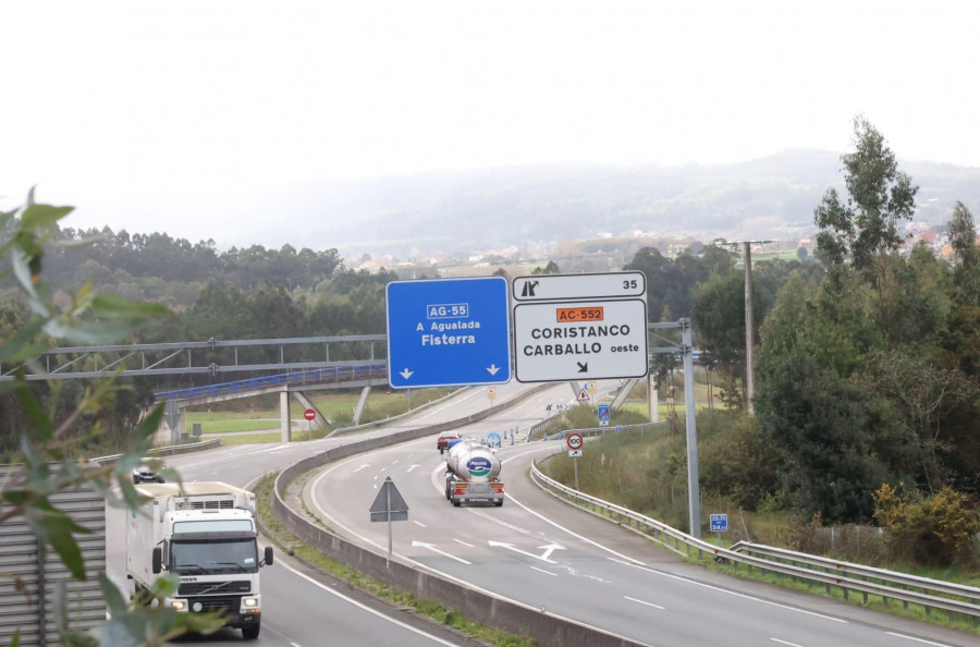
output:
MULTIPOLYGON (((787 150, 725 166, 538 164, 294 186, 278 200, 295 247, 402 258, 501 249, 599 232, 629 236, 805 236, 841 156, 787 150), (290 222, 290 221, 294 222, 290 222)), ((917 221, 945 223, 956 200, 980 212, 980 169, 899 160, 920 186, 917 221)), ((241 232, 243 235, 245 232, 241 232)), ((260 232, 259 232, 260 233, 260 232)))

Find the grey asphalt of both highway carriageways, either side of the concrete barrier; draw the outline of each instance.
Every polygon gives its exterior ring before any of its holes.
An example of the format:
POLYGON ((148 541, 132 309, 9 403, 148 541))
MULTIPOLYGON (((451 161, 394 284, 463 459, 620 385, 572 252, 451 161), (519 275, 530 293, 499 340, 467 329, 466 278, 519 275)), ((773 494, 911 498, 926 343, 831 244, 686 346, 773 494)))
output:
MULTIPOLYGON (((555 384, 512 408, 500 406, 530 386, 467 389, 450 401, 419 412, 390 428, 396 430, 457 419, 488 407, 500 408, 465 435, 503 435, 526 429, 544 417, 548 403, 568 402, 572 390, 555 384)), ((245 487, 262 474, 326 448, 350 442, 335 437, 273 445, 233 445, 174 456, 169 466, 185 480, 224 480, 245 487)), ((658 647, 700 645, 967 646, 960 632, 865 611, 819 597, 759 583, 736 581, 684 564, 666 550, 614 524, 561 503, 527 478, 532 459, 564 451, 559 441, 504 444, 507 499, 502 508, 454 509, 444 498, 443 462, 434 435, 352 456, 324 467, 307 485, 307 505, 346 538, 387 552, 385 524, 368 521, 377 487, 391 476, 409 506, 409 520, 394 525, 395 559, 415 562, 446 577, 541 608, 604 631, 658 647)), ((587 444, 585 451, 589 450, 587 444)), ((128 590, 124 514, 107 520, 109 574, 128 590)), ((469 645, 438 624, 393 610, 305 570, 277 551, 261 571, 262 631, 255 645, 469 645)), ((212 645, 241 642, 222 630, 175 643, 212 645)))

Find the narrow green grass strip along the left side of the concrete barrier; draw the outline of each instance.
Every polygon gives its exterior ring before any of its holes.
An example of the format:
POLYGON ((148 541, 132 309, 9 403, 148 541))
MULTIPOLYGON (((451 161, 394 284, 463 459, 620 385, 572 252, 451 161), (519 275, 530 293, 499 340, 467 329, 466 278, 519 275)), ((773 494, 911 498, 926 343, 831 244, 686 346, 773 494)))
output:
POLYGON ((303 544, 303 541, 293 535, 285 526, 283 526, 275 515, 272 514, 272 486, 275 475, 269 475, 259 480, 255 486, 256 500, 258 504, 259 521, 265 528, 268 539, 272 541, 280 550, 286 554, 298 559, 309 566, 314 566, 326 571, 333 576, 343 579, 350 586, 358 588, 377 598, 380 598, 391 605, 399 607, 411 607, 416 613, 431 618, 440 624, 451 626, 466 635, 483 640, 490 645, 500 647, 534 647, 535 643, 529 638, 523 638, 501 632, 479 623, 466 620, 456 611, 451 611, 442 606, 442 602, 436 600, 420 600, 415 594, 409 594, 384 583, 372 579, 367 575, 359 573, 351 566, 332 560, 319 551, 303 544))

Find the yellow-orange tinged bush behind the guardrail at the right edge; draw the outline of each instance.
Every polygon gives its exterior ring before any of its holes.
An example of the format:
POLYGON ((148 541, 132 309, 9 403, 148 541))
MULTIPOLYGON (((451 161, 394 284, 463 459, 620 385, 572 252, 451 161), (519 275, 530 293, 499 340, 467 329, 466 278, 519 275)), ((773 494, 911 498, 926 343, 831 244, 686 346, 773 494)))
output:
POLYGON ((885 528, 894 558, 947 566, 976 557, 980 514, 966 495, 945 487, 927 497, 884 484, 873 497, 874 518, 885 528))

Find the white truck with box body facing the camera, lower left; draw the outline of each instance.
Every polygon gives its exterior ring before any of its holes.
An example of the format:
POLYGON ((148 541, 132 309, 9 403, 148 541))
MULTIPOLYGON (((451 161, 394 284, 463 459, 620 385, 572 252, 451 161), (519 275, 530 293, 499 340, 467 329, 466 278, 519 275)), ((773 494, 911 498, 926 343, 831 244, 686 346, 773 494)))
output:
POLYGON ((259 569, 272 563, 272 547, 259 559, 255 495, 224 483, 140 485, 149 500, 126 523, 126 577, 136 595, 161 571, 180 577, 176 595, 163 600, 177 612, 222 612, 225 626, 255 639, 261 626, 259 569))

